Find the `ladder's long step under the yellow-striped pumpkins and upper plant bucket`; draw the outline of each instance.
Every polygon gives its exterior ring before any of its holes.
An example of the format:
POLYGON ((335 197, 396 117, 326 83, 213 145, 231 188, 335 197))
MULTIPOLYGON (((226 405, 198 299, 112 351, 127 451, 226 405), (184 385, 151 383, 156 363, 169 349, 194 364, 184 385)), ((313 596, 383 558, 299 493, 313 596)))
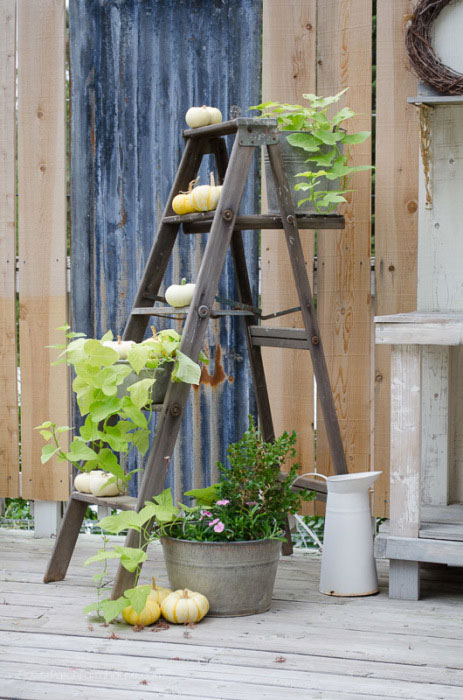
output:
MULTIPOLYGON (((205 127, 206 128, 206 127, 205 127)), ((200 212, 197 214, 183 214, 182 216, 165 216, 165 224, 183 224, 184 233, 207 233, 214 219, 214 211, 200 212)), ((304 216, 296 214, 296 222, 299 229, 343 229, 344 217, 337 214, 330 216, 314 214, 304 216)), ((283 221, 279 214, 249 214, 237 216, 235 231, 283 229, 283 221)))

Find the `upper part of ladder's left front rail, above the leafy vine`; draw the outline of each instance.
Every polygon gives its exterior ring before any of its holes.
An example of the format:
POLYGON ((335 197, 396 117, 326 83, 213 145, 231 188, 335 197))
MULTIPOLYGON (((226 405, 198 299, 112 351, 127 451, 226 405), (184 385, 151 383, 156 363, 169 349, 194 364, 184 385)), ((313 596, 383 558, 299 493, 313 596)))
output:
MULTIPOLYGON (((204 139, 188 139, 186 142, 132 308, 152 306, 152 297, 159 292, 180 228, 180 223, 166 223, 165 218, 173 214, 172 200, 175 195, 186 190, 191 180, 196 177, 205 152, 205 145, 204 139)), ((148 315, 130 314, 123 338, 140 342, 143 340, 148 322, 148 315)))

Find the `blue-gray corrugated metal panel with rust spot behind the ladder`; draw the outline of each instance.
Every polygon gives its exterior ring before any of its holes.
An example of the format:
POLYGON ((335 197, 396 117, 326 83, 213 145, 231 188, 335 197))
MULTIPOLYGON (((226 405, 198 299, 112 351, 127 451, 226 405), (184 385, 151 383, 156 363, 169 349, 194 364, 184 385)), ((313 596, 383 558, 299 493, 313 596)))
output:
MULTIPOLYGON (((76 330, 122 331, 183 150, 188 107, 214 105, 226 118, 232 105, 259 101, 261 5, 71 0, 76 330)), ((256 154, 242 211, 258 211, 257 163, 256 154)), ((203 165, 203 183, 208 170, 203 165)), ((166 285, 194 280, 199 269, 203 237, 180 235, 166 285)), ((257 301, 258 238, 244 238, 257 301)), ((235 298, 230 256, 219 293, 235 298)), ((191 392, 169 476, 177 496, 215 479, 216 460, 255 412, 240 320, 211 322, 208 348, 210 380, 191 392)))

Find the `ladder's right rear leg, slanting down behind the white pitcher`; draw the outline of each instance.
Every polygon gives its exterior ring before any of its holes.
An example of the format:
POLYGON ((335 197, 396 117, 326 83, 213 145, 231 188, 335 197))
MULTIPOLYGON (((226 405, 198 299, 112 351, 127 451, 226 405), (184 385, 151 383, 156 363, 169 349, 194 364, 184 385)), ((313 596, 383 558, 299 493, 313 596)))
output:
POLYGON ((336 474, 346 474, 347 464, 344 454, 341 432, 339 429, 336 407, 334 404, 331 384, 326 364, 323 344, 320 338, 320 330, 315 313, 312 291, 304 263, 304 253, 302 250, 299 230, 296 223, 296 215, 291 199, 288 180, 281 157, 280 144, 267 145, 267 151, 272 170, 273 181, 278 197, 278 204, 281 211, 286 243, 289 257, 293 269, 294 280, 296 282, 297 293, 301 305, 301 313, 304 326, 307 331, 308 347, 312 358, 314 374, 317 381, 317 392, 320 399, 323 418, 325 420, 328 444, 330 447, 331 459, 336 474))

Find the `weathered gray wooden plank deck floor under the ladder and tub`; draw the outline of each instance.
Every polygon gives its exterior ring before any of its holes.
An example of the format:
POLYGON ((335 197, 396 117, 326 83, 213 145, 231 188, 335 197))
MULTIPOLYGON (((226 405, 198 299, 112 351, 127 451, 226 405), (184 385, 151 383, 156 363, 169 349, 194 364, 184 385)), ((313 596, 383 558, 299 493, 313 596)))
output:
MULTIPOLYGON (((0 530, 1 698, 463 698, 463 569, 427 569, 411 603, 388 599, 380 562, 379 595, 329 598, 319 557, 296 553, 268 613, 136 632, 81 612, 100 538, 81 535, 66 580, 44 585, 52 544, 0 530)), ((156 545, 152 573, 167 583, 156 545)))

